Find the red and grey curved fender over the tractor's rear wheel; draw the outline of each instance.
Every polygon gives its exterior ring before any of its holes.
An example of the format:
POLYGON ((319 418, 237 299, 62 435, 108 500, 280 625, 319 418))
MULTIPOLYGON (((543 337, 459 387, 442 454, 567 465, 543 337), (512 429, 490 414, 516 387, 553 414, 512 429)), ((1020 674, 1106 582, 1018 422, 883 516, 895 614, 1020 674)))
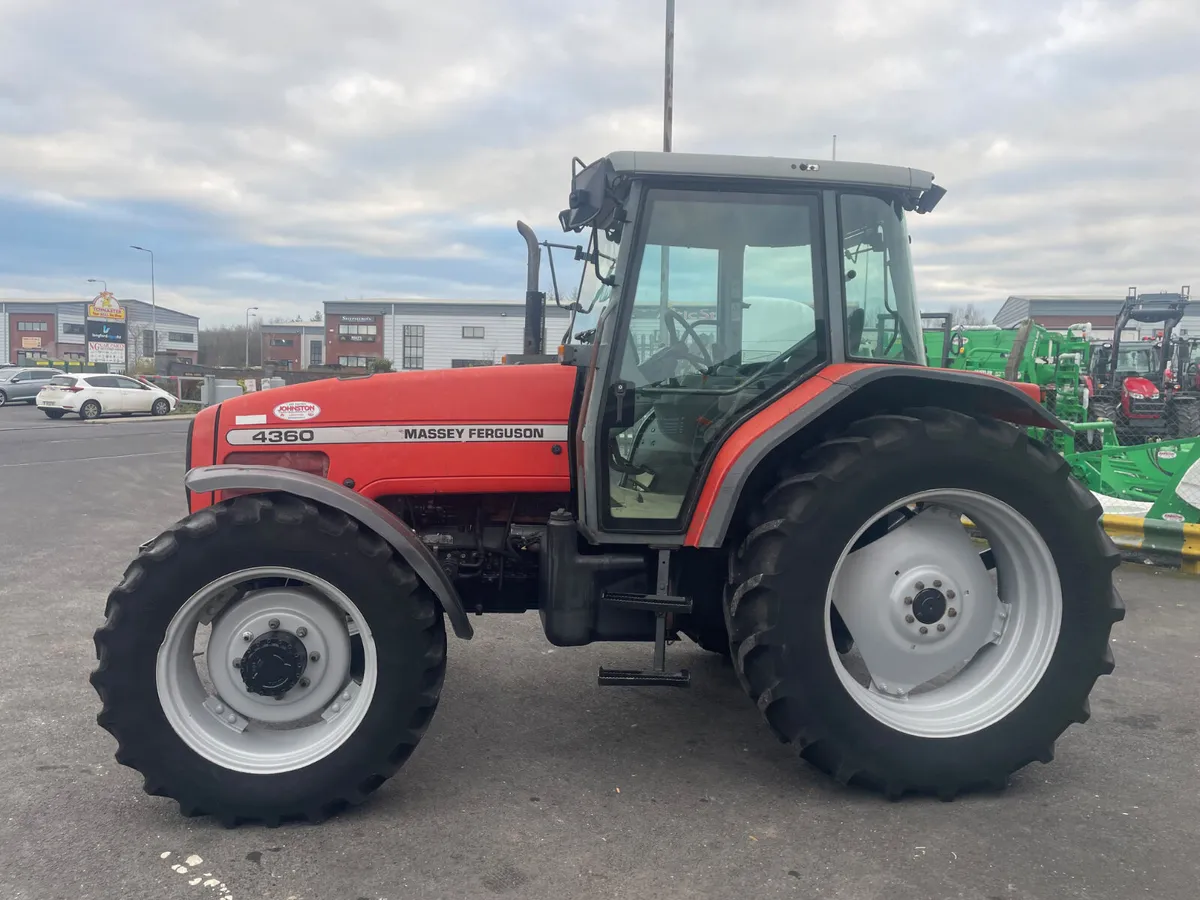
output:
POLYGON ((988 415, 1021 427, 1068 431, 1034 398, 1034 384, 1015 384, 995 376, 956 370, 899 365, 834 365, 808 379, 793 392, 808 396, 788 412, 770 415, 770 407, 744 422, 718 452, 688 529, 685 546, 719 547, 725 542, 756 473, 775 472, 784 457, 796 457, 823 437, 851 422, 912 407, 942 407, 971 415, 988 415))

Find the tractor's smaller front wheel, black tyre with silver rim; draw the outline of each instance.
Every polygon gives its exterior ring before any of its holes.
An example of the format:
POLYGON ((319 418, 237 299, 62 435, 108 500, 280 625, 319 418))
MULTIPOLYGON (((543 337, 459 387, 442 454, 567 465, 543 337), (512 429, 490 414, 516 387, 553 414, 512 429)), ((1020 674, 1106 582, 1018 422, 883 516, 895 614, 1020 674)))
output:
POLYGON ((286 494, 172 526, 106 614, 91 683, 118 762, 229 827, 361 803, 413 752, 445 674, 428 588, 378 535, 286 494))

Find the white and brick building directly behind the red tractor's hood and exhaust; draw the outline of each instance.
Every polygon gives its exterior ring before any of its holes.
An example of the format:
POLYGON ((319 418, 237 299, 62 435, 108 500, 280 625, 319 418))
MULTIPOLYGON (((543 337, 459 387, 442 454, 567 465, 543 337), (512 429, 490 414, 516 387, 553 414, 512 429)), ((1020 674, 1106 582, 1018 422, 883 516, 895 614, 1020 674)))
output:
MULTIPOLYGON (((546 347, 557 347, 570 313, 546 307, 546 347)), ((310 323, 311 324, 311 323, 310 323)), ((265 326, 264 332, 275 326, 265 326)), ((460 368, 500 362, 524 342, 524 304, 508 300, 335 300, 325 304, 325 365, 460 368)), ((316 365, 316 364, 310 364, 316 365)))

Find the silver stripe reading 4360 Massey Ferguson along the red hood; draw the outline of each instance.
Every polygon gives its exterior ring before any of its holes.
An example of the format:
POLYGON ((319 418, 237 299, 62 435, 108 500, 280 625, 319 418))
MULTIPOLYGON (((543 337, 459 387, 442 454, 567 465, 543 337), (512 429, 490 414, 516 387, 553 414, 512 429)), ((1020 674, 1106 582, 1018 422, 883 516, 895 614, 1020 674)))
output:
MULTIPOLYGON (((276 409, 276 415, 278 410, 276 409)), ((280 416, 283 418, 283 416, 280 416)), ((349 425, 314 428, 233 428, 227 439, 253 444, 467 444, 566 440, 565 425, 349 425)))

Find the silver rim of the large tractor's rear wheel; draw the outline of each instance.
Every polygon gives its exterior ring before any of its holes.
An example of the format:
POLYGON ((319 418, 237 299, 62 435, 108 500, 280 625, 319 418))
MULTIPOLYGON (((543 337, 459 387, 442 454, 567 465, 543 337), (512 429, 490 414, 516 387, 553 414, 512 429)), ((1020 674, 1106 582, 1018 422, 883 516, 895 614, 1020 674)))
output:
POLYGON ((1046 542, 1012 506, 974 491, 924 491, 877 512, 842 551, 826 596, 826 644, 846 691, 888 727, 923 738, 972 734, 1008 716, 1040 683, 1061 626, 1046 542), (904 508, 907 521, 851 552, 904 508), (995 581, 964 516, 990 546, 995 581), (869 680, 836 650, 834 607, 869 680))

